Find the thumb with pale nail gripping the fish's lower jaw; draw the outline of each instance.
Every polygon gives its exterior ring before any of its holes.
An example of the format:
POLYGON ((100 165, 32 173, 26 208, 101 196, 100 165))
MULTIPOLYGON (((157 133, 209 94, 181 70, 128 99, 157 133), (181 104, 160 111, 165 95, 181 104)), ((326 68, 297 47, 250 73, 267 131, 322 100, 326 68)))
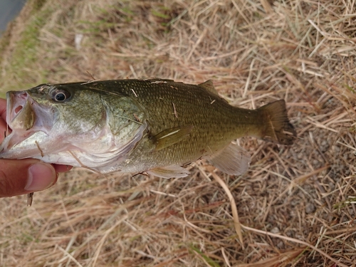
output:
POLYGON ((38 159, 0 159, 0 197, 41 191, 56 180, 54 167, 38 159))

